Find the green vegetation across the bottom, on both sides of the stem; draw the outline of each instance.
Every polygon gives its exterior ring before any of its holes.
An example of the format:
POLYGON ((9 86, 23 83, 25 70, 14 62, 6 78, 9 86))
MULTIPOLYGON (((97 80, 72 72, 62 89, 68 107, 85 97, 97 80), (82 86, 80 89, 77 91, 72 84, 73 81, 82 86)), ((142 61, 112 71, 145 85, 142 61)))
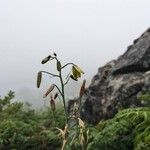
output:
MULTIPOLYGON (((0 98, 0 149, 61 149, 61 135, 55 127, 65 127, 63 106, 57 106, 54 120, 50 108, 36 111, 28 103, 12 102, 13 98, 11 91, 0 98)), ((80 121, 68 133, 67 150, 149 150, 150 108, 125 109, 97 126, 80 121), (84 140, 77 136, 81 133, 84 140)))

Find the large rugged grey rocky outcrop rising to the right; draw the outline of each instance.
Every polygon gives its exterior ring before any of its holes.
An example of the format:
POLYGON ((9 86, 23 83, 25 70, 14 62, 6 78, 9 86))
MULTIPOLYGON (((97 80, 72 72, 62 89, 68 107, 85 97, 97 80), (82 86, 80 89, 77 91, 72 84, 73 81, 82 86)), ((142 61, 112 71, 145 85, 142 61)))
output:
POLYGON ((150 29, 117 60, 98 69, 82 97, 81 118, 96 124, 119 109, 141 106, 138 96, 150 87, 150 29))

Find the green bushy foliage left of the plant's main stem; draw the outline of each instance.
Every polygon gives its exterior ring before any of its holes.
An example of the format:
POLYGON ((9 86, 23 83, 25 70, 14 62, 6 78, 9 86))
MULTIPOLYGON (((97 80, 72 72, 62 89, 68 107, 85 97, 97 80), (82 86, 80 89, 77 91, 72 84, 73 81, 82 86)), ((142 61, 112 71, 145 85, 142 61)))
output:
MULTIPOLYGON (((54 129, 52 113, 36 112, 28 104, 11 102, 14 92, 0 99, 0 149, 59 149, 58 131, 54 129)), ((58 109, 55 123, 62 127, 65 118, 58 109)))

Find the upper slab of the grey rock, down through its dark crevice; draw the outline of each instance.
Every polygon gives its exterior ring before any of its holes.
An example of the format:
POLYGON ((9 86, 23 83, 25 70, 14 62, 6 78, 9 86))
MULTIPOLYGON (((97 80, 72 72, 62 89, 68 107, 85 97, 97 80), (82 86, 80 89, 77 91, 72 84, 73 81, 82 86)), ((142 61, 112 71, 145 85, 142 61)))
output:
POLYGON ((134 44, 118 58, 113 74, 150 70, 150 29, 134 40, 134 44))

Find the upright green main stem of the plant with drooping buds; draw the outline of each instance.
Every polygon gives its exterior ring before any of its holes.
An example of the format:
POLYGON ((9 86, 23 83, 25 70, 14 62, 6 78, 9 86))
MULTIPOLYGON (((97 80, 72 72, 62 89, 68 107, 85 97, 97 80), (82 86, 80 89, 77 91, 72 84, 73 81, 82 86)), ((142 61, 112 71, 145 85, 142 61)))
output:
POLYGON ((67 113, 67 107, 66 107, 65 90, 64 90, 64 83, 63 83, 61 70, 59 71, 59 78, 60 78, 60 83, 61 83, 61 88, 62 88, 62 98, 63 98, 63 104, 64 104, 64 110, 65 110, 66 124, 67 124, 68 113, 67 113))

